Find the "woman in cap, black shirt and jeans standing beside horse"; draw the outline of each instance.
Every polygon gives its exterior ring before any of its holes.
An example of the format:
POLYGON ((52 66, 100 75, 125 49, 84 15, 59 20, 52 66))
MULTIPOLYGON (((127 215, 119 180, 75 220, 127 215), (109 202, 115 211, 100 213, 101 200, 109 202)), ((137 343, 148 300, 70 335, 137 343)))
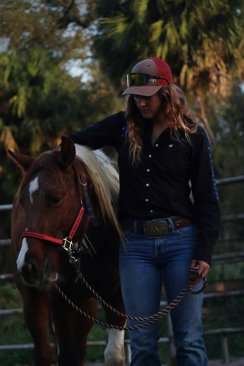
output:
MULTIPOLYGON (((69 137, 93 149, 113 145, 118 153, 118 218, 127 239, 126 250, 120 246, 121 288, 127 314, 147 317, 159 311, 162 280, 172 302, 187 284, 189 269, 199 265, 206 276, 220 214, 208 138, 172 83, 168 64, 142 60, 127 82, 126 112, 69 137)), ((188 292, 170 312, 179 366, 207 365, 202 299, 203 293, 188 292)), ((158 322, 129 335, 131 366, 161 365, 158 322)))

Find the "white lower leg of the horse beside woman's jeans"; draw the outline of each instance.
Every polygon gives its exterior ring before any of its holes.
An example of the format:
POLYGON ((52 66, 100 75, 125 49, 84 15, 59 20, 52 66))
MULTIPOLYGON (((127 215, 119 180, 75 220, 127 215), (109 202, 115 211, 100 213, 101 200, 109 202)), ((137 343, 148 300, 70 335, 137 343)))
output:
POLYGON ((104 351, 106 366, 124 365, 124 330, 107 329, 108 345, 104 351))

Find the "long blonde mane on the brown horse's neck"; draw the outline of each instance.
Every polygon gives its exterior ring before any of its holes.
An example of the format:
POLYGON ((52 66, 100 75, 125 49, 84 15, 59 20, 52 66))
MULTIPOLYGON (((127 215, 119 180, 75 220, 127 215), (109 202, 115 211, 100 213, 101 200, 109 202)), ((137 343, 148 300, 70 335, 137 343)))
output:
POLYGON ((75 144, 76 156, 86 165, 94 191, 97 195, 102 216, 108 217, 116 227, 120 239, 123 240, 120 225, 118 223, 115 205, 119 194, 119 174, 116 171, 116 163, 113 162, 101 150, 90 150, 89 147, 75 144))

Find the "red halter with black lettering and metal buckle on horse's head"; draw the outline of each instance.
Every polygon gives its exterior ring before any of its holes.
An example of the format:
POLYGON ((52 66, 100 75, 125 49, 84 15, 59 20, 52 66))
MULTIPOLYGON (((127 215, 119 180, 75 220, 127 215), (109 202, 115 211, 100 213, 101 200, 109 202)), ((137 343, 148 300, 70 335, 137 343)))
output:
MULTIPOLYGON (((85 201, 85 206, 83 205, 82 199, 81 199, 81 206, 80 206, 79 213, 76 216, 76 219, 75 219, 68 235, 66 236, 66 238, 57 239, 57 238, 52 238, 52 236, 40 234, 38 232, 25 231, 25 232, 22 233, 22 239, 26 238, 26 237, 27 238, 35 238, 35 239, 40 239, 40 240, 46 240, 49 243, 59 244, 68 252, 68 254, 70 256, 70 261, 72 261, 72 262, 77 261, 77 259, 84 253, 84 251, 82 251, 80 249, 82 240, 79 241, 78 248, 76 249, 74 244, 72 243, 72 239, 75 235, 76 230, 79 227, 79 224, 82 220, 82 216, 83 216, 83 213, 85 212, 85 209, 87 210, 87 213, 89 215, 89 221, 91 222, 93 227, 98 225, 97 218, 95 217, 95 213, 94 213, 94 210, 91 206, 90 198, 89 198, 88 192, 86 190, 87 182, 86 182, 86 178, 85 178, 84 174, 83 174, 83 177, 84 177, 85 182, 82 183, 82 179, 80 179, 80 184, 81 184, 83 199, 85 201)), ((90 248, 88 248, 88 251, 89 250, 90 250, 90 248)))

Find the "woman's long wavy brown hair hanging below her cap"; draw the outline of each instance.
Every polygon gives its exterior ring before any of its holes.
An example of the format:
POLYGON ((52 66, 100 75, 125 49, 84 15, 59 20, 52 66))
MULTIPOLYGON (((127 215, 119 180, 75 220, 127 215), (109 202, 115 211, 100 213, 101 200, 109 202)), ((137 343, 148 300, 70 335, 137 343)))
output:
MULTIPOLYGON (((184 131, 185 137, 190 142, 189 134, 196 132, 199 120, 189 109, 183 90, 172 83, 163 85, 158 93, 163 96, 162 112, 164 120, 170 128, 170 134, 180 140, 180 131, 184 131)), ((129 154, 132 158, 132 165, 136 166, 140 161, 143 147, 144 118, 136 107, 133 94, 128 96, 125 119, 128 126, 129 154)))

